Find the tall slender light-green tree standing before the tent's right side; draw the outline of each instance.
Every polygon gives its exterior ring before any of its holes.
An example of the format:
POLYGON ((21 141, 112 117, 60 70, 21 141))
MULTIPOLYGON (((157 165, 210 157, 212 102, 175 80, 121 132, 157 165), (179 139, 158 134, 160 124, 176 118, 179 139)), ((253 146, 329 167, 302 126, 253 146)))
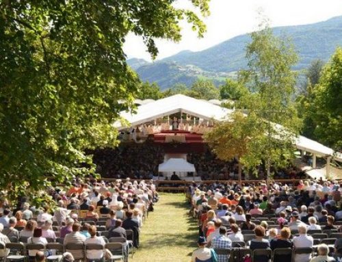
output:
POLYGON ((276 38, 268 25, 253 32, 251 38, 246 51, 248 70, 242 75, 256 94, 247 96, 245 103, 249 114, 259 119, 260 131, 265 135, 252 144, 254 157, 245 161, 254 166, 255 157, 261 159, 269 177, 271 165, 285 166, 293 157, 293 140, 298 135, 300 120, 292 100, 296 75, 291 67, 298 57, 291 42, 276 38))

